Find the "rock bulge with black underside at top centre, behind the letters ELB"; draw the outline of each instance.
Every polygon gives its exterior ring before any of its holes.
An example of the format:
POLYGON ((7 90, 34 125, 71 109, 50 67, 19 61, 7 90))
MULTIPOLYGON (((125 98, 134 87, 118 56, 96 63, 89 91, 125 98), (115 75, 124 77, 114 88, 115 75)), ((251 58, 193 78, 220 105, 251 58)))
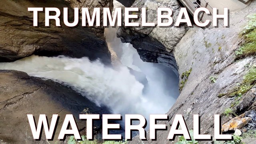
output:
MULTIPOLYGON (((172 18, 176 20, 180 8, 178 0, 136 0, 131 7, 147 8, 147 22, 154 22, 155 27, 120 27, 117 37, 122 42, 131 43, 138 50, 142 60, 146 62, 162 63, 175 69, 178 75, 178 67, 171 51, 184 36, 188 28, 186 26, 159 27, 157 26, 157 8, 171 8, 172 18)), ((141 16, 134 22, 141 24, 141 16)), ((165 21, 165 20, 164 20, 165 21)))

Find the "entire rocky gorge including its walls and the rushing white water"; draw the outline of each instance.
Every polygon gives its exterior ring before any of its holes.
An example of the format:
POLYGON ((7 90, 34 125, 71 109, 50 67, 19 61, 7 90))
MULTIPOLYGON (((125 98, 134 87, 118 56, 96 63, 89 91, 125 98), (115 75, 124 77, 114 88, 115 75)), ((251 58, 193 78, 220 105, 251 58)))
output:
MULTIPOLYGON (((176 114, 182 114, 188 130, 193 129, 193 115, 199 114, 201 134, 214 135, 214 125, 210 123, 214 114, 220 114, 224 124, 234 117, 234 114, 224 114, 227 108, 236 114, 255 110, 255 86, 241 97, 224 95, 241 84, 249 68, 256 63, 254 55, 240 58, 235 53, 244 42, 240 34, 248 24, 247 16, 256 13, 255 1, 245 8, 230 11, 229 28, 200 28, 194 24, 193 27, 166 28, 69 28, 64 25, 56 27, 54 21, 50 27, 32 26, 33 16, 27 12, 28 7, 56 7, 60 10, 63 7, 87 7, 90 12, 94 7, 108 7, 110 10, 114 5, 121 7, 115 0, 79 1, 0 1, 2 142, 44 144, 56 141, 57 138, 48 141, 45 136, 41 141, 35 141, 26 114, 44 113, 49 119, 52 114, 62 117, 73 114, 81 135, 86 134, 86 128, 85 122, 78 120, 78 115, 88 112, 86 108, 92 114, 167 112, 169 119, 157 122, 167 126, 176 114)), ((174 20, 182 8, 177 0, 136 0, 132 3, 132 7, 148 8, 148 22, 155 23, 158 7, 171 7, 174 20)), ((139 17, 137 21, 142 19, 139 17)), ((38 22, 45 22, 44 14, 39 14, 38 22)), ((59 123, 63 121, 60 119, 59 123)), ((94 132, 98 134, 101 122, 96 123, 94 132)), ((57 135, 60 127, 57 126, 57 135)), ((167 130, 170 131, 170 126, 167 130)), ((149 133, 146 134, 149 139, 149 133)), ((156 141, 143 143, 178 141, 178 138, 166 140, 168 133, 164 131, 158 131, 156 136, 156 141)), ((253 138, 249 140, 255 143, 253 138)), ((142 142, 135 136, 129 143, 142 142)), ((210 144, 212 141, 199 143, 210 144)))

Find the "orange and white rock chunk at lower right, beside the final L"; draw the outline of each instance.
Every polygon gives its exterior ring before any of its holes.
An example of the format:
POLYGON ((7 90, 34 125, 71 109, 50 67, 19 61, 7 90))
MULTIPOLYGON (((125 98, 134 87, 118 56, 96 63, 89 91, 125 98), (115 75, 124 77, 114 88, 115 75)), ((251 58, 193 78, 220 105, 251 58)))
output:
POLYGON ((222 132, 227 132, 229 130, 240 129, 240 128, 244 127, 246 124, 248 124, 248 122, 250 122, 251 120, 252 119, 250 117, 246 117, 246 118, 235 117, 235 118, 232 118, 232 120, 230 120, 226 124, 222 125, 221 131, 222 132))

